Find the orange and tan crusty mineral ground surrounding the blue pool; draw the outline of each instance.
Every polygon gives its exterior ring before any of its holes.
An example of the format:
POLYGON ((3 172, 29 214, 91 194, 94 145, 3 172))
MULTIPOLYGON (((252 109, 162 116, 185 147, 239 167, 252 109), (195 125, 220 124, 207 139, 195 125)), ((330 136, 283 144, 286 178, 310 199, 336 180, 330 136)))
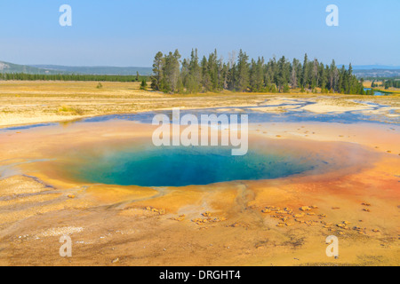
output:
POLYGON ((325 173, 148 188, 77 182, 74 149, 147 141, 136 122, 0 132, 2 265, 398 265, 400 128, 252 124, 251 140, 332 156, 325 173), (59 254, 70 236, 72 256, 59 254), (338 258, 325 254, 339 238, 338 258))

